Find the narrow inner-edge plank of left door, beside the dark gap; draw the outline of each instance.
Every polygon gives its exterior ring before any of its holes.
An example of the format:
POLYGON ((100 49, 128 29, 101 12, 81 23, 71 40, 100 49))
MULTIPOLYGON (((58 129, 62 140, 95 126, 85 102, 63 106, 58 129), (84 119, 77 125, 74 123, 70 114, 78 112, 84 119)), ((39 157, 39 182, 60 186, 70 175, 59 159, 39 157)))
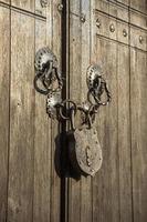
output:
MULTIPOLYGON (((51 44, 51 48, 55 56, 57 57, 59 65, 61 68, 61 19, 62 13, 59 12, 57 6, 61 3, 60 0, 53 0, 51 1, 52 6, 52 42, 50 40, 49 44, 51 44)), ((52 222, 60 222, 61 216, 61 179, 55 170, 55 163, 60 167, 60 157, 56 159, 55 153, 57 149, 61 149, 59 145, 56 145, 56 137, 60 133, 60 125, 59 122, 55 120, 51 121, 51 137, 52 137, 52 151, 51 151, 51 218, 50 220, 52 222)))

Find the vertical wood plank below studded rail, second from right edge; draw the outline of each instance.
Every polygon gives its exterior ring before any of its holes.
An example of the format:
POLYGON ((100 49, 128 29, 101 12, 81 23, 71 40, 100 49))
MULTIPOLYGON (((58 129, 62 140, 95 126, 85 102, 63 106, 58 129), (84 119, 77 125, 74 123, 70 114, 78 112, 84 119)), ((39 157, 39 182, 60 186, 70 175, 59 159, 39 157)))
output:
POLYGON ((118 44, 118 161, 120 221, 132 222, 129 48, 118 44))

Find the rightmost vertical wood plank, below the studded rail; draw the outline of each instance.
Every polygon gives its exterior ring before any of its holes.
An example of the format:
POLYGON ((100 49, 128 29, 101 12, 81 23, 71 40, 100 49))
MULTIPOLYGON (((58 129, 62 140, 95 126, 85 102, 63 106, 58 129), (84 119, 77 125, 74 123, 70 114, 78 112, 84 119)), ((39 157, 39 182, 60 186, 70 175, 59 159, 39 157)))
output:
POLYGON ((134 221, 147 221, 147 56, 130 51, 132 164, 134 221))

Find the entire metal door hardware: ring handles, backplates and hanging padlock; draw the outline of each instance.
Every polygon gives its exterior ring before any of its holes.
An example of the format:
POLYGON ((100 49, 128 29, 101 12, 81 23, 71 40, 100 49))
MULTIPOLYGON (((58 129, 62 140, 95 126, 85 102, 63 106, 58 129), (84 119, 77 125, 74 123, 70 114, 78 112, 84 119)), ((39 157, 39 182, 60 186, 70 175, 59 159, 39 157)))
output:
POLYGON ((46 112, 50 118, 69 121, 71 129, 66 133, 71 165, 83 175, 95 175, 102 165, 102 149, 94 127, 95 114, 101 105, 111 101, 103 70, 97 64, 87 68, 87 98, 81 104, 72 100, 62 100, 62 74, 55 54, 42 48, 35 56, 34 88, 46 95, 46 112), (103 99, 102 99, 103 95, 103 99), (77 112, 81 113, 81 127, 74 125, 77 112))

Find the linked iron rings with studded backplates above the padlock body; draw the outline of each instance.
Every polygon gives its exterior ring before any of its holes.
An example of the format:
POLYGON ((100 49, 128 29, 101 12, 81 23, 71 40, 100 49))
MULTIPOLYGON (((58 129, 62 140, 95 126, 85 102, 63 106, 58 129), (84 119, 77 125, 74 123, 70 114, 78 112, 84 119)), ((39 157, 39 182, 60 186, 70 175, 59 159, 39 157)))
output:
POLYGON ((76 102, 70 99, 62 101, 61 93, 63 80, 57 68, 57 60, 48 48, 39 50, 35 61, 36 75, 34 78, 34 88, 38 92, 48 95, 46 112, 50 118, 56 118, 61 121, 70 120, 72 129, 74 129, 73 119, 78 110, 81 117, 83 117, 82 124, 87 124, 88 128, 92 128, 98 108, 101 105, 107 105, 111 102, 112 97, 106 81, 102 78, 101 69, 97 68, 97 65, 92 67, 92 69, 90 68, 90 83, 85 104, 76 104, 76 102), (49 60, 42 59, 43 53, 45 53, 45 57, 48 56, 49 60), (44 61, 44 63, 42 61, 44 61), (97 70, 99 71, 99 74, 97 74, 97 70), (53 88, 55 81, 57 81, 57 87, 53 88), (102 100, 104 93, 106 99, 102 100))

